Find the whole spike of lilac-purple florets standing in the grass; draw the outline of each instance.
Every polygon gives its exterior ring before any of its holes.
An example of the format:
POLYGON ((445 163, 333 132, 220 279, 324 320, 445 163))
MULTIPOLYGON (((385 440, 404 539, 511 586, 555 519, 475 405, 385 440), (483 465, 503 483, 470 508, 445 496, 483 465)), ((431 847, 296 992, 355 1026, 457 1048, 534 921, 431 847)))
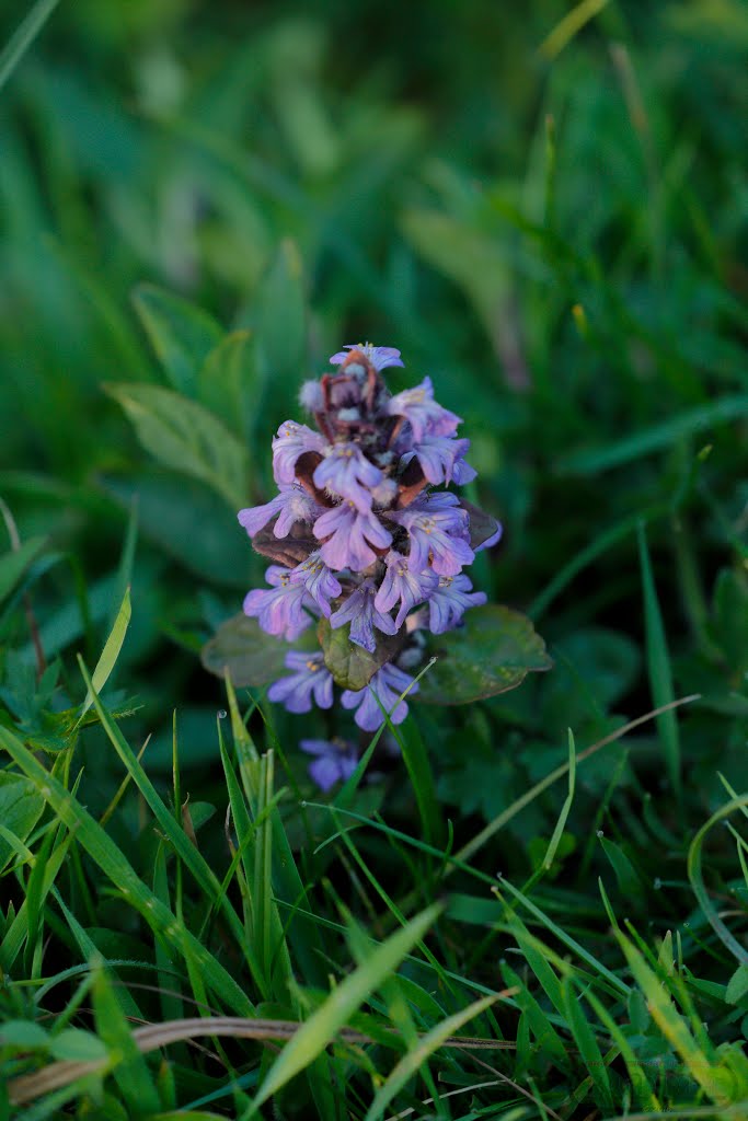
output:
MULTIPOLYGON (((301 391, 315 427, 286 420, 273 441, 278 493, 239 513, 257 552, 279 562, 267 569, 270 586, 249 592, 244 612, 288 641, 320 619, 332 630, 348 626, 350 641, 377 655, 379 668, 341 702, 359 728, 376 731, 385 711, 403 721, 401 694, 417 692, 404 667, 414 665, 418 631, 441 634, 486 602, 462 569, 501 528, 435 489, 475 472, 465 460, 470 441, 456 435, 461 418, 434 400, 428 378, 393 395, 382 370, 404 363, 389 346, 347 346, 330 362, 338 372, 301 391)), ((295 713, 313 703, 330 708, 324 655, 295 649, 285 663, 289 673, 268 697, 295 713)), ((340 752, 333 758, 343 766, 340 752)))

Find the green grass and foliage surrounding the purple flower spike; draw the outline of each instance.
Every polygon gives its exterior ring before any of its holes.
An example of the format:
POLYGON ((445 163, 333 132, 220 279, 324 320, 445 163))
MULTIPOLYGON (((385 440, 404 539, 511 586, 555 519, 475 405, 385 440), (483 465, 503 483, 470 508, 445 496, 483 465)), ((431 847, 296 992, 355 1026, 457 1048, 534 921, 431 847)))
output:
POLYGON ((748 1117, 742 6, 0 33, 0 1119, 748 1117), (200 650, 363 337, 554 668, 321 796, 200 650))

